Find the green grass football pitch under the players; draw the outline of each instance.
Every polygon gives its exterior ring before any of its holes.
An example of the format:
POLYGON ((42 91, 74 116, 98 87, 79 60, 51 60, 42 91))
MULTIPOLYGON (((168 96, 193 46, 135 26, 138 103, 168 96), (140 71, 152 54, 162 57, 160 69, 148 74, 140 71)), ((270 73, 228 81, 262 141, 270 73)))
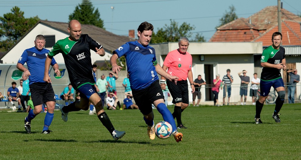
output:
MULTIPOLYGON (((114 127, 126 131, 118 141, 89 111, 70 112, 68 122, 55 111, 49 135, 41 134, 45 113, 27 134, 26 113, 0 112, 0 159, 301 159, 301 105, 284 105, 280 124, 273 111, 274 105, 265 105, 263 124, 256 125, 255 106, 188 107, 180 143, 150 140, 139 110, 106 110, 114 127)), ((163 120, 154 114, 155 123, 163 120)))

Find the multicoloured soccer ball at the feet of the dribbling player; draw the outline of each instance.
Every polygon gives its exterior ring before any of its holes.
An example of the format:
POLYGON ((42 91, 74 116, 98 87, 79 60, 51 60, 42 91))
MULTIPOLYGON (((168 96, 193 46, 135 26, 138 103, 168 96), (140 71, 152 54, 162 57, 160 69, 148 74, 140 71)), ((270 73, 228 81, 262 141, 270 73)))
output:
POLYGON ((166 139, 171 136, 172 127, 168 122, 162 121, 155 126, 155 134, 160 139, 166 139))

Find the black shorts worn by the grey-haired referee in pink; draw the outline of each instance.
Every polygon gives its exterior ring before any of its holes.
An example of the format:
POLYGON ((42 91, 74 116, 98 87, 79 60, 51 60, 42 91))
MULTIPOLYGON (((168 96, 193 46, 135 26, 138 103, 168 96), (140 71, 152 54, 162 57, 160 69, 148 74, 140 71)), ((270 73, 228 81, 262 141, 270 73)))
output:
POLYGON ((176 104, 179 102, 189 104, 188 99, 188 83, 185 81, 178 81, 177 84, 167 81, 167 87, 172 96, 172 103, 176 104))

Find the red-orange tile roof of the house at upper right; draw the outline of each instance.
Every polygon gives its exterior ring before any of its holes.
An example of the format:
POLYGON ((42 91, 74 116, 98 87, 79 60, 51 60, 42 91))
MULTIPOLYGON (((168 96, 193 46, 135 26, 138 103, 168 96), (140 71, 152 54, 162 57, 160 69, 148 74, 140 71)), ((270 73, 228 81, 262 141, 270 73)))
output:
MULTIPOLYGON (((301 45, 301 17, 283 8, 281 14, 282 45, 301 45)), ((277 6, 268 6, 249 18, 238 18, 217 28, 209 42, 262 42, 269 46, 272 33, 277 31, 277 6)))

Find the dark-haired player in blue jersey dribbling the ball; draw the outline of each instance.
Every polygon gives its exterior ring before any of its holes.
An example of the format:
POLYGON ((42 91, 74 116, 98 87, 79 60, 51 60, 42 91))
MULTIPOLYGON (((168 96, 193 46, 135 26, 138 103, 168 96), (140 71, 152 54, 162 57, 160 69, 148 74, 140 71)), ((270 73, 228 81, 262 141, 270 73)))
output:
POLYGON ((177 82, 178 77, 167 74, 166 71, 157 63, 155 49, 149 46, 153 33, 153 25, 143 22, 138 27, 138 40, 127 42, 113 51, 110 58, 112 71, 118 75, 122 67, 117 65, 117 58, 124 56, 127 62, 127 72, 130 77, 130 87, 132 95, 144 115, 144 121, 148 125, 147 134, 150 139, 155 138, 154 133, 154 113, 152 104, 172 126, 172 134, 177 142, 182 141, 183 134, 177 132, 176 123, 171 112, 164 104, 164 95, 159 85, 158 75, 161 75, 169 81, 177 82))

